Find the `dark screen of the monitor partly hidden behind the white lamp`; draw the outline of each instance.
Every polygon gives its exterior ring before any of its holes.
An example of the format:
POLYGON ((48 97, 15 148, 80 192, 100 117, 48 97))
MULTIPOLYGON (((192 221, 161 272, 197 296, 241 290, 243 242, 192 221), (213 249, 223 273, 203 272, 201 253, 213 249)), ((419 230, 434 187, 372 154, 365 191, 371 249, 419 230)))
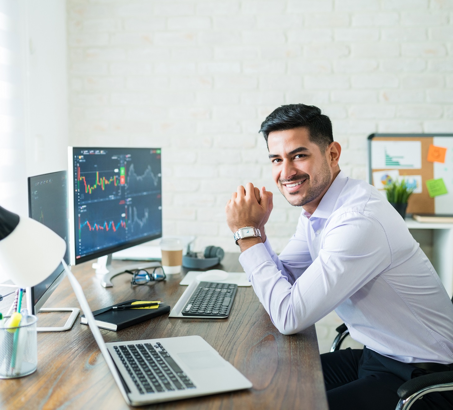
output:
MULTIPOLYGON (((28 178, 29 188, 29 216, 41 222, 66 241, 64 261, 69 262, 69 232, 68 232, 68 204, 67 204, 67 172, 53 172, 28 178)), ((46 279, 31 288, 32 301, 36 306, 44 293, 61 275, 64 268, 58 265, 57 269, 46 279)), ((47 296, 48 297, 48 296, 47 296)), ((32 313, 34 313, 32 311, 32 313)))

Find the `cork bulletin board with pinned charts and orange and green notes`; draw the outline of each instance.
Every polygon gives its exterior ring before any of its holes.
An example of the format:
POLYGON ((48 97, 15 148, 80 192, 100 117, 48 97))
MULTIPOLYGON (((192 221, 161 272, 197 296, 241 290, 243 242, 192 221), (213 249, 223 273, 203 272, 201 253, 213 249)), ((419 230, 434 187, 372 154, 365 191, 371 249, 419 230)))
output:
POLYGON ((408 213, 453 214, 453 134, 371 134, 368 166, 384 194, 395 179, 414 187, 408 213))

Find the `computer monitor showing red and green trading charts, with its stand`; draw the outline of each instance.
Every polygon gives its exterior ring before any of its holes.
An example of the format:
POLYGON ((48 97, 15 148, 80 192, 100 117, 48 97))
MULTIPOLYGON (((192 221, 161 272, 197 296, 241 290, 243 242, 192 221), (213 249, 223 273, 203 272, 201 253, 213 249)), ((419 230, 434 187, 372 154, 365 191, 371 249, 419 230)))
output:
POLYGON ((108 256, 97 272, 111 286, 140 266, 115 270, 113 252, 162 236, 161 149, 69 147, 68 161, 71 264, 108 256))

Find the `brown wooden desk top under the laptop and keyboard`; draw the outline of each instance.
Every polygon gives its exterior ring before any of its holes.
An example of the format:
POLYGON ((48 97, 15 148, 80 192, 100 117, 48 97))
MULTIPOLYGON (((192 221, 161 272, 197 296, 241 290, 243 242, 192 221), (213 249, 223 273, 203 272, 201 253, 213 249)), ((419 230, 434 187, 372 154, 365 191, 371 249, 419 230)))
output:
MULTIPOLYGON (((225 257, 223 269, 241 270, 238 254, 225 257)), ((120 264, 121 262, 118 262, 120 264)), ((185 286, 171 275, 152 286, 130 286, 130 275, 102 288, 91 262, 73 267, 92 310, 128 299, 162 300, 173 306, 185 286)), ((185 272, 183 272, 185 273, 185 272)), ((5 290, 5 288, 0 288, 5 290)), ((9 298, 1 302, 6 311, 9 298)), ((78 307, 67 278, 46 303, 78 307)), ((40 326, 57 326, 55 313, 39 314, 40 326), (49 323, 53 320, 53 323, 49 323), (45 323, 43 323, 45 322, 45 323)), ((60 317, 60 322, 65 321, 60 317)), ((106 342, 200 335, 252 383, 245 391, 150 405, 147 409, 328 409, 314 325, 284 336, 272 325, 253 289, 238 289, 228 319, 177 319, 159 316, 120 332, 101 329, 106 342)), ((221 381, 220 381, 221 382, 221 381)), ((86 325, 67 332, 38 333, 38 370, 27 377, 0 380, 2 409, 128 409, 86 325)))

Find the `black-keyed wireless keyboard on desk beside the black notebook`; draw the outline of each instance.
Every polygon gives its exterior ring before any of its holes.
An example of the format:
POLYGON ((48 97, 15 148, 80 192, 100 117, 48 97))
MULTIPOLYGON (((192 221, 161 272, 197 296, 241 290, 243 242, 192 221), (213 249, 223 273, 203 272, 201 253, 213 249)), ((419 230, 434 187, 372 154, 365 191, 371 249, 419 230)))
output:
POLYGON ((227 318, 236 295, 237 285, 200 282, 181 314, 205 318, 227 318))

